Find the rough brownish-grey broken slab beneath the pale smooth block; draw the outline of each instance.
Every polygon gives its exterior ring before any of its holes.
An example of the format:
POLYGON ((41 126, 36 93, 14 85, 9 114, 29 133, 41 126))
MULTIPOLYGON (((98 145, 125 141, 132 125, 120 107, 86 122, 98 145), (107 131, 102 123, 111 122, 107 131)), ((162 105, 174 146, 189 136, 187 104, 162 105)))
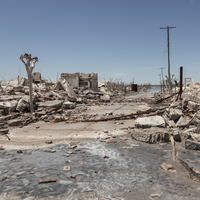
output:
POLYGON ((131 133, 132 139, 146 142, 150 144, 159 143, 159 142, 169 142, 169 134, 164 131, 156 131, 156 130, 141 130, 134 129, 131 133))

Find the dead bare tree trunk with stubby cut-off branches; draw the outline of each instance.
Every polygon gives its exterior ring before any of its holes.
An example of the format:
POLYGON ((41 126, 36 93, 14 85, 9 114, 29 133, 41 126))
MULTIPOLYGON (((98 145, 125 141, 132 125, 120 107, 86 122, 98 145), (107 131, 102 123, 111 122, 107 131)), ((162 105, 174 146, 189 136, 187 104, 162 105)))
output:
POLYGON ((19 58, 25 65, 27 75, 28 75, 28 80, 29 80, 29 104, 30 104, 30 111, 34 112, 34 107, 33 107, 33 92, 32 92, 32 71, 35 68, 35 63, 38 62, 38 58, 34 57, 31 58, 31 54, 25 53, 24 55, 21 55, 19 58), (26 62, 24 61, 24 58, 26 59, 26 62), (30 67, 30 62, 32 61, 31 67, 30 67))

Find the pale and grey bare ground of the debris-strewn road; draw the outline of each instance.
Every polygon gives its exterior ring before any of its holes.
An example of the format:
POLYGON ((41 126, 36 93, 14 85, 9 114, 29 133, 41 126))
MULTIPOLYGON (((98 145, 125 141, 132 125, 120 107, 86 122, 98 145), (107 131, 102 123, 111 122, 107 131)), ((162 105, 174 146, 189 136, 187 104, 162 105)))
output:
MULTIPOLYGON (((151 93, 128 98, 151 98, 151 93)), ((145 103, 94 106, 88 113, 134 113, 145 103)), ((172 160, 170 143, 146 144, 131 138, 134 119, 66 124, 37 122, 0 136, 1 200, 196 200, 200 183, 172 160), (111 143, 101 142, 111 137, 111 143), (52 144, 45 142, 52 141, 52 144), (76 145, 70 149, 71 145, 76 145), (51 150, 50 153, 46 150, 51 150), (67 154, 67 156, 66 156, 67 154), (65 155, 65 156, 63 156, 65 155), (172 164, 175 173, 160 168, 172 164), (63 170, 70 167, 69 171, 63 170), (39 184, 54 178, 56 182, 39 184)), ((200 171, 200 154, 177 145, 177 154, 200 171)))

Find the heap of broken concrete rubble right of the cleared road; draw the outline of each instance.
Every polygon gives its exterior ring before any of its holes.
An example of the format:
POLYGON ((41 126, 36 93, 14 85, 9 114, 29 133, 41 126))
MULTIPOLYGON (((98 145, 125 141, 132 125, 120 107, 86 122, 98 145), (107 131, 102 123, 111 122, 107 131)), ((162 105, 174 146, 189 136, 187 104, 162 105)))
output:
POLYGON ((200 150, 200 86, 192 83, 185 87, 181 99, 177 95, 166 98, 163 94, 156 94, 156 99, 161 98, 158 100, 160 104, 168 102, 167 108, 159 116, 137 118, 131 130, 132 138, 146 143, 162 143, 169 142, 173 136, 182 147, 200 150))

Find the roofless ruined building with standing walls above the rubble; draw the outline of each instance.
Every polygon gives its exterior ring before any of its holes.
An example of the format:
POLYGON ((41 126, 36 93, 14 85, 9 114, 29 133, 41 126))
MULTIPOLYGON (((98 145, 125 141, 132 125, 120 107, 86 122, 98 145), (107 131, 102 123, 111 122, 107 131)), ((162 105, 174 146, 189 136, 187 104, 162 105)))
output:
POLYGON ((98 74, 97 73, 62 73, 61 79, 67 80, 69 85, 73 87, 85 87, 92 89, 94 92, 98 92, 98 74))

